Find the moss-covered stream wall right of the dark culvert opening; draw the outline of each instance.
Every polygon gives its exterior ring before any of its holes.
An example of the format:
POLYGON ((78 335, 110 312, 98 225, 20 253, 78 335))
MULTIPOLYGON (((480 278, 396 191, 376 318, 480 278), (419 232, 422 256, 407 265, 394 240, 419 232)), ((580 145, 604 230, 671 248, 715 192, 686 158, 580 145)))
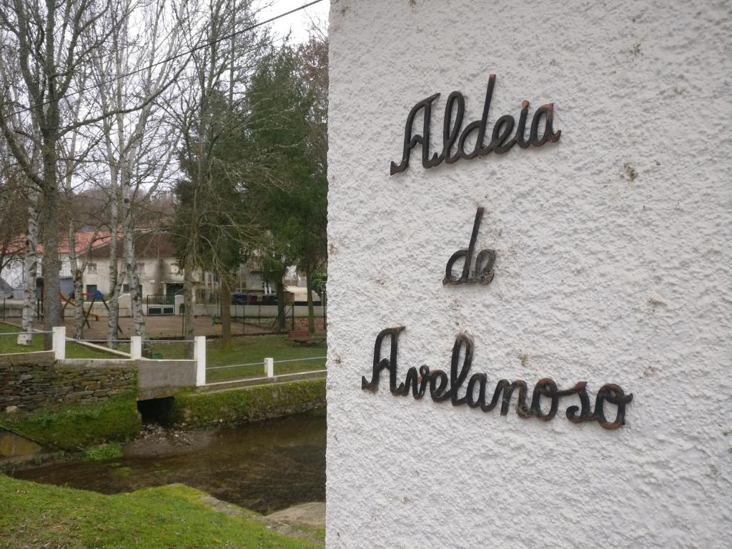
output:
POLYGON ((325 405, 325 379, 307 379, 176 395, 168 422, 194 427, 242 425, 301 414, 325 405))

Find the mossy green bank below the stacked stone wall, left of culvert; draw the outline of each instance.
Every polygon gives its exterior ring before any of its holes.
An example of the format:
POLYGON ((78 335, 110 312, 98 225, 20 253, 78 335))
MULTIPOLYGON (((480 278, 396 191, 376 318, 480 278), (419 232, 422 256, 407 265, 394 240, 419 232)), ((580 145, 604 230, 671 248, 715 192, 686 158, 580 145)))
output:
POLYGON ((60 449, 80 449, 96 441, 123 441, 141 429, 134 394, 102 403, 76 403, 35 412, 0 414, 0 425, 60 449))

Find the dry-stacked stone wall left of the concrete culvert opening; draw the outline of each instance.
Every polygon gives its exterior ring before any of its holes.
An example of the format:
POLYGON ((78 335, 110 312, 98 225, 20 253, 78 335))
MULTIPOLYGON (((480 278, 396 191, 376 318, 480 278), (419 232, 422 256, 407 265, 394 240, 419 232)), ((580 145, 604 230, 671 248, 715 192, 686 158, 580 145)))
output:
POLYGON ((53 360, 53 352, 0 356, 0 411, 58 403, 100 403, 137 389, 135 362, 53 360))

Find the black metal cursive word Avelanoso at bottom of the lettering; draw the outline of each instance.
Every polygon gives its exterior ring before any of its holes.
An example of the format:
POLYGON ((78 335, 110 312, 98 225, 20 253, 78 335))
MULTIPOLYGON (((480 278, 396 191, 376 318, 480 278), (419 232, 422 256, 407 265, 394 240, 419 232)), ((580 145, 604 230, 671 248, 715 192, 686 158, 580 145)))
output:
POLYGON ((488 412, 496 408, 500 398, 501 416, 508 414, 508 408, 511 403, 513 392, 518 389, 518 399, 516 403, 516 412, 519 417, 528 419, 535 417, 542 421, 550 421, 556 416, 559 410, 559 399, 562 397, 570 397, 577 395, 580 400, 580 406, 569 406, 566 414, 567 419, 572 423, 583 423, 597 421, 603 429, 617 429, 625 423, 625 406, 633 399, 633 395, 626 395, 619 386, 615 384, 605 384, 600 387, 595 399, 594 411, 590 408, 590 399, 587 395, 587 382, 579 381, 572 389, 559 389, 556 383, 550 378, 543 378, 537 381, 534 386, 534 392, 531 396, 531 405, 526 406, 526 381, 516 380, 512 383, 505 379, 501 379, 496 384, 493 391, 493 397, 490 402, 486 402, 486 385, 488 384, 488 376, 485 373, 474 373, 468 380, 466 393, 462 397, 458 396, 460 387, 463 386, 473 362, 473 340, 465 334, 460 334, 455 338, 455 345, 452 347, 452 360, 450 363, 450 375, 443 370, 430 370, 427 366, 411 367, 407 370, 406 380, 397 386, 397 354, 399 334, 404 329, 403 326, 396 328, 388 328, 382 330, 376 337, 376 345, 373 350, 373 370, 371 381, 367 381, 365 377, 361 378, 361 388, 370 391, 378 389, 378 380, 381 372, 387 370, 389 372, 389 390, 395 396, 407 396, 411 390, 412 396, 419 400, 425 396, 427 386, 430 388, 430 396, 435 402, 450 400, 452 406, 462 406, 467 404, 470 408, 480 408, 484 412, 488 412), (389 358, 381 358, 381 344, 384 338, 389 337, 391 348, 389 358), (465 358, 463 365, 460 366, 460 353, 465 348, 465 358), (448 387, 449 385, 449 387, 448 387), (478 394, 476 396, 476 388, 478 394), (542 410, 542 397, 550 400, 549 411, 542 410), (605 417, 605 402, 615 404, 617 408, 616 418, 613 422, 608 421, 605 417))

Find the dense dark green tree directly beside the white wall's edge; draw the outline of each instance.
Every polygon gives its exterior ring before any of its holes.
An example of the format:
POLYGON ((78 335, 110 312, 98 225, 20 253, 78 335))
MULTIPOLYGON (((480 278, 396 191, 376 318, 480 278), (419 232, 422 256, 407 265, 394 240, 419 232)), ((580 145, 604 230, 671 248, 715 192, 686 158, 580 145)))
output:
MULTIPOLYGON (((247 136, 250 148, 261 152, 262 171, 271 182, 252 182, 248 201, 256 205, 261 227, 271 234, 268 255, 293 261, 305 272, 310 288, 311 275, 326 263, 328 187, 323 98, 327 81, 313 76, 318 70, 326 70, 327 63, 308 47, 294 50, 285 45, 264 56, 247 93, 247 136)), ((278 295, 283 296, 282 277, 274 281, 278 295)), ((310 291, 307 301, 312 333, 315 319, 310 291)), ((282 307, 283 299, 279 302, 282 307)), ((281 310, 280 318, 283 320, 281 310)))

